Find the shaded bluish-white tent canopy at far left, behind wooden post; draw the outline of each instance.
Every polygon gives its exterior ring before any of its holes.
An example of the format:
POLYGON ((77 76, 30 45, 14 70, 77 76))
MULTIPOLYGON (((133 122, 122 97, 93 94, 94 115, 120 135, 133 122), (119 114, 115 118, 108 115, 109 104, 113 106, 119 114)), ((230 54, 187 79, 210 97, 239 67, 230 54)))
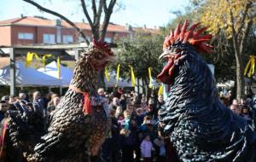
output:
MULTIPOLYGON (((0 84, 10 85, 10 66, 0 71, 0 84)), ((23 86, 60 86, 60 81, 31 67, 23 61, 16 61, 16 84, 23 86)))

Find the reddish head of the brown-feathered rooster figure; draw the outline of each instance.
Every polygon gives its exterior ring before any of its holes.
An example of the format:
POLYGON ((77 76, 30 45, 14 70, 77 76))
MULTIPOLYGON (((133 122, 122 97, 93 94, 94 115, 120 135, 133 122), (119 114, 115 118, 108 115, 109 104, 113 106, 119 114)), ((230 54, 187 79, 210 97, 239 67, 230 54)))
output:
POLYGON ((115 60, 108 43, 96 40, 90 43, 89 48, 84 53, 83 59, 96 71, 103 69, 108 62, 115 60))

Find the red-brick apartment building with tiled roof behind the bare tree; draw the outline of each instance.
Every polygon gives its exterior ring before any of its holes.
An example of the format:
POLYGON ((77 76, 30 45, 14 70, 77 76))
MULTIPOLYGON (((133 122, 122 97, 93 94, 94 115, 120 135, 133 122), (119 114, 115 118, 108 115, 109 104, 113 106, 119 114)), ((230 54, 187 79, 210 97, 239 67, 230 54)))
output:
MULTIPOLYGON (((84 22, 75 23, 91 40, 90 26, 84 22)), ((105 41, 129 37, 131 26, 109 23, 105 41)), ((72 26, 63 20, 49 20, 39 16, 22 16, 11 20, 0 20, 0 45, 77 43, 83 38, 72 26)))

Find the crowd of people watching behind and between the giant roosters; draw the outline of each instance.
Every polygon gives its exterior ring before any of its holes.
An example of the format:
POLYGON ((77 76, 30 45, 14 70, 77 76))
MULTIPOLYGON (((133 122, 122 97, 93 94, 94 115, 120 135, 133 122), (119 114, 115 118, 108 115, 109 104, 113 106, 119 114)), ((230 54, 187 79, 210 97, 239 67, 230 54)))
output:
MULTIPOLYGON (((97 90, 98 95, 108 99, 109 117, 112 120, 111 131, 102 145, 102 159, 106 162, 166 162, 166 159, 176 159, 172 153, 170 140, 160 135, 157 129, 160 107, 165 103, 163 95, 152 93, 150 96, 137 95, 134 91, 125 93, 118 90, 107 93, 104 89, 97 90), (168 152, 168 153, 167 153, 168 152)), ((0 121, 7 117, 7 110, 14 109, 16 101, 28 101, 44 107, 45 118, 49 117, 60 102, 61 97, 49 92, 44 97, 39 91, 32 94, 32 99, 25 93, 18 96, 4 95, 0 101, 0 121)), ((252 113, 247 98, 238 101, 234 99, 230 104, 227 98, 220 96, 220 100, 231 111, 252 122, 252 113)))

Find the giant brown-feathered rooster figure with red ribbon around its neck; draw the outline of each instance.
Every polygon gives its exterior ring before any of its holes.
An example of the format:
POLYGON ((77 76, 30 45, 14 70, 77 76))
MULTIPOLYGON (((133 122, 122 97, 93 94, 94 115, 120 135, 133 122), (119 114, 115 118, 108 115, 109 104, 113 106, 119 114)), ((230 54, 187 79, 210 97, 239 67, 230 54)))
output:
POLYGON ((69 89, 49 124, 36 103, 20 101, 15 104, 19 112, 10 112, 3 124, 8 127, 2 139, 9 139, 8 144, 20 149, 29 162, 88 162, 96 157, 110 129, 108 103, 96 95, 96 75, 109 61, 113 53, 108 43, 91 43, 77 61, 69 89))

